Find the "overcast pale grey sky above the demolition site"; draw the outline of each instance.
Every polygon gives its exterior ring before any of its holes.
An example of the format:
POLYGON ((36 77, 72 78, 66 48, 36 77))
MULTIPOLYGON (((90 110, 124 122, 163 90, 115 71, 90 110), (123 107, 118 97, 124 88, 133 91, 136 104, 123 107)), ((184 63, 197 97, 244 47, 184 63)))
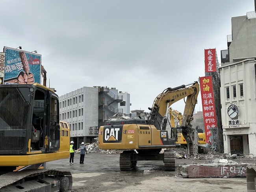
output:
POLYGON ((59 96, 115 87, 148 112, 167 87, 204 76, 204 49, 221 62, 231 17, 254 11, 254 0, 2 0, 0 9, 0 47, 37 50, 59 96))

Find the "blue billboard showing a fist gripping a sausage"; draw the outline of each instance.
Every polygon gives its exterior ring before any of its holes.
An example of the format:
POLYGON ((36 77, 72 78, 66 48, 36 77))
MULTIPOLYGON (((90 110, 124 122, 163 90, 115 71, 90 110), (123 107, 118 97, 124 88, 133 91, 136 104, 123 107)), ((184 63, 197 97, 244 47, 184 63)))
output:
POLYGON ((41 83, 41 55, 4 47, 4 84, 41 83))

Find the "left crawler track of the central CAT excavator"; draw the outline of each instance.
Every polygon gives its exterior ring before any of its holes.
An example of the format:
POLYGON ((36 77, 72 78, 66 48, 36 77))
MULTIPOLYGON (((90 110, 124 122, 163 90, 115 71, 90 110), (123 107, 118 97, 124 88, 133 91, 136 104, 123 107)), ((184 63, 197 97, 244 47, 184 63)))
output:
POLYGON ((131 171, 137 166, 137 161, 132 161, 131 157, 135 153, 134 151, 123 151, 120 154, 120 170, 131 171))

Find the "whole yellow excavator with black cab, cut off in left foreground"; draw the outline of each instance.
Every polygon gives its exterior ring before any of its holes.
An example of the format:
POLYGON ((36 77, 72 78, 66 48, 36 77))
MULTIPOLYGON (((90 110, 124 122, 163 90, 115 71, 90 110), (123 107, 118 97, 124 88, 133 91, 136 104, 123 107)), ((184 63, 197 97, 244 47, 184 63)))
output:
POLYGON ((52 89, 0 85, 0 192, 70 191, 69 171, 45 168, 45 162, 69 157, 69 141, 52 89))

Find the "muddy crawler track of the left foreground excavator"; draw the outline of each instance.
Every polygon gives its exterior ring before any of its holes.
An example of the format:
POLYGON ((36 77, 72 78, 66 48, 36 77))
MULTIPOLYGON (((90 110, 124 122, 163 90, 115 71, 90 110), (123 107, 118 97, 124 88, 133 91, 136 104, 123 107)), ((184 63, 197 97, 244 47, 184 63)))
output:
POLYGON ((71 192, 72 175, 69 171, 30 169, 0 175, 0 192, 71 192))

